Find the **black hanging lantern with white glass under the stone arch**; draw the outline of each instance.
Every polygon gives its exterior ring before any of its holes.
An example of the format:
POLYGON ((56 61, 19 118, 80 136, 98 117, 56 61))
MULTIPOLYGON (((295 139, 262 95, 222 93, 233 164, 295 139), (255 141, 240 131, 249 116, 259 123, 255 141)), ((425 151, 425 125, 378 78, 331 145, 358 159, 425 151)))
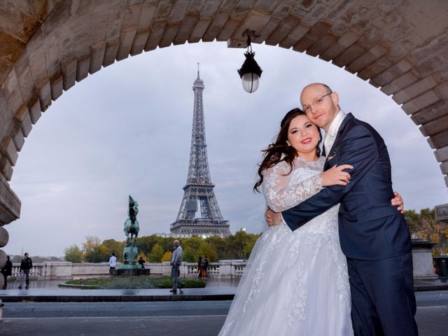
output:
POLYGON ((243 36, 247 35, 247 51, 244 52, 246 60, 244 61, 241 69, 238 70, 239 77, 243 82, 243 88, 246 92, 252 93, 258 89, 258 83, 260 83, 261 73, 263 72, 260 66, 255 61, 255 52, 252 51, 251 36, 255 35, 255 31, 246 29, 243 36), (249 51, 250 50, 250 51, 249 51))

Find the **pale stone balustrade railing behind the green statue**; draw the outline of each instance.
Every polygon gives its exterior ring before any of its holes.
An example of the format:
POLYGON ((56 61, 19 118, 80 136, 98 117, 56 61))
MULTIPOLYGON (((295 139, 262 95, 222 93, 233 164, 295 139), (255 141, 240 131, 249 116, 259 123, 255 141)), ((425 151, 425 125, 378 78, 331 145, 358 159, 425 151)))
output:
MULTIPOLYGON (((120 263, 118 263, 120 267, 120 263)), ((145 268, 151 269, 151 274, 171 275, 169 262, 147 262, 145 268)), ((221 279, 237 279, 241 277, 246 268, 244 260, 223 260, 210 262, 207 267, 207 276, 221 279)), ((20 263, 13 264, 11 281, 20 276, 20 263)), ((181 276, 194 278, 197 276, 196 262, 182 262, 179 267, 181 276)), ((35 280, 71 280, 88 277, 109 276, 109 263, 72 263, 72 262, 36 262, 29 272, 31 279, 35 280)))

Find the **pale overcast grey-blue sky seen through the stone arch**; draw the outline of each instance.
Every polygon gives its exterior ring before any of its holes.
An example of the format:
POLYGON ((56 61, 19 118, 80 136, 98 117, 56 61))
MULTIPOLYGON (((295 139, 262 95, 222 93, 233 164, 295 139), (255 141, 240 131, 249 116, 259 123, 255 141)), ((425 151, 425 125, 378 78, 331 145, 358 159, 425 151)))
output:
POLYGON ((169 232, 188 173, 197 62, 211 180, 232 232, 262 230, 265 202, 252 191, 260 151, 283 115, 299 106, 302 87, 316 81, 384 137, 393 188, 407 209, 447 203, 433 151, 391 97, 321 59, 267 45, 253 49, 263 69, 253 94, 237 74, 244 50, 225 43, 146 52, 64 92, 34 125, 14 168, 10 185, 22 211, 6 226, 6 253, 63 255, 86 235, 121 241, 128 195, 139 202, 139 235, 169 232))

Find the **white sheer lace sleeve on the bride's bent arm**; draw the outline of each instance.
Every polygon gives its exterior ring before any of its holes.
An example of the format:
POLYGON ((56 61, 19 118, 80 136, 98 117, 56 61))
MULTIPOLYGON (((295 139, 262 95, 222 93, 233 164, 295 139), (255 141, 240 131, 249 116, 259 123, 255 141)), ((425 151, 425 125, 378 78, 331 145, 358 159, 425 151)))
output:
POLYGON ((290 185, 293 172, 288 172, 289 165, 284 161, 263 172, 262 192, 267 205, 275 212, 295 207, 323 188, 320 174, 290 185))

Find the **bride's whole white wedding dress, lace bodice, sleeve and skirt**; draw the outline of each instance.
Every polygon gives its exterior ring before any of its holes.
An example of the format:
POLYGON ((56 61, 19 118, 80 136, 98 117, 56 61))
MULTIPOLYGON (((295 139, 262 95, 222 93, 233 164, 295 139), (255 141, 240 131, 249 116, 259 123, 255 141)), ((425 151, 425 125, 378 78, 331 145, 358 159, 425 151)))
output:
MULTIPOLYGON (((262 190, 274 211, 284 211, 322 187, 325 158, 279 162, 263 174, 262 190)), ((353 335, 346 258, 332 207, 291 232, 272 226, 256 242, 220 336, 353 335)))

